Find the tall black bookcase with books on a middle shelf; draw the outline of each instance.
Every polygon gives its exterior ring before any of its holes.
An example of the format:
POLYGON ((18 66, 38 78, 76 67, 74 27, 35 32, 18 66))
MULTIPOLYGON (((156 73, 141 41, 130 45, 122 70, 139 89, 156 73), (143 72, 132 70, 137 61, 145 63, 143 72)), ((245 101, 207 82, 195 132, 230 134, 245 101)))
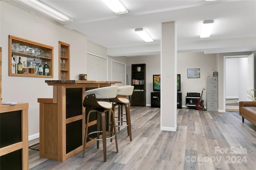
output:
POLYGON ((131 106, 146 106, 146 64, 132 64, 131 106))

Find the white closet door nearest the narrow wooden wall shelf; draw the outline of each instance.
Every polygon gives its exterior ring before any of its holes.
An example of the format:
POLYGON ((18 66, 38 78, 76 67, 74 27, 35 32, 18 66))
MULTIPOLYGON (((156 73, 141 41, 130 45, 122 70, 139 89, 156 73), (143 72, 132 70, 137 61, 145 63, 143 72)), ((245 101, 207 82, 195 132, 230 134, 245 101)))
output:
POLYGON ((87 80, 107 81, 107 59, 87 53, 87 80))

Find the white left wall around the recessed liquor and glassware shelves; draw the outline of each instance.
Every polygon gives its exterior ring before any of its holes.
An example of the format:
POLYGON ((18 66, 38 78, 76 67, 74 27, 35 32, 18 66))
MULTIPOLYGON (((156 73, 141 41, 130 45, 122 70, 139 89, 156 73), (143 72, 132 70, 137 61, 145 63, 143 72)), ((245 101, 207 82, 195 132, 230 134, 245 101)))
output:
POLYGON ((28 135, 39 137, 37 98, 52 98, 52 86, 45 80, 58 80, 58 41, 70 44, 70 79, 87 70, 87 37, 58 24, 31 16, 19 8, 0 1, 0 44, 2 46, 2 98, 7 102, 29 103, 28 135), (8 76, 8 35, 54 47, 53 78, 8 76))

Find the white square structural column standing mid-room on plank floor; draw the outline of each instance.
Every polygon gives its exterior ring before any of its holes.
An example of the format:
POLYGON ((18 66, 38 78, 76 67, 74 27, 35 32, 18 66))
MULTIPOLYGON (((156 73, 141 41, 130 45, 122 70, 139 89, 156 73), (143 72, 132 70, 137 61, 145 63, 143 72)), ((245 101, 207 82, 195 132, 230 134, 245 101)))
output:
POLYGON ((161 39, 161 130, 177 127, 177 36, 176 23, 162 23, 161 39))

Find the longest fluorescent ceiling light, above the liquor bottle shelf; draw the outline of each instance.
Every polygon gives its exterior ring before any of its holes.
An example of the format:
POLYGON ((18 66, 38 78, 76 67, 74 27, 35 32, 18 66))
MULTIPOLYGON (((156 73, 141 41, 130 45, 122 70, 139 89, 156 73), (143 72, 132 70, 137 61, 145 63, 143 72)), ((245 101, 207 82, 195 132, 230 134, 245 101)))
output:
POLYGON ((72 22, 73 21, 72 18, 69 18, 68 16, 58 12, 57 10, 54 10, 52 7, 46 5, 38 0, 17 0, 17 1, 29 6, 31 8, 34 8, 35 10, 38 10, 39 12, 42 12, 43 14, 46 14, 58 21, 62 21, 62 22, 72 22))

